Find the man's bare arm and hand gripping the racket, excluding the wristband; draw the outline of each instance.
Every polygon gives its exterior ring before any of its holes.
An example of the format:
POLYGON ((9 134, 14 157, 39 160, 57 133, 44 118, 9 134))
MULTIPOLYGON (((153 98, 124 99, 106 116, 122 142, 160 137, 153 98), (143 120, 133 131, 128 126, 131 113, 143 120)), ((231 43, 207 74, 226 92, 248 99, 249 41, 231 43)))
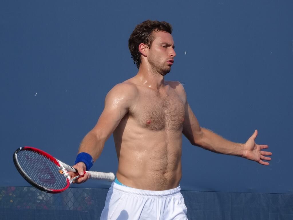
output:
MULTIPOLYGON (((78 153, 88 153, 94 161, 99 158, 105 142, 129 111, 135 99, 135 94, 137 94, 136 87, 127 83, 117 84, 108 92, 105 98, 104 110, 96 126, 82 140, 78 153)), ((77 163, 74 167, 80 175, 86 170, 83 162, 77 163)), ((80 177, 75 183, 81 183, 87 179, 88 174, 85 174, 84 177, 80 177)))

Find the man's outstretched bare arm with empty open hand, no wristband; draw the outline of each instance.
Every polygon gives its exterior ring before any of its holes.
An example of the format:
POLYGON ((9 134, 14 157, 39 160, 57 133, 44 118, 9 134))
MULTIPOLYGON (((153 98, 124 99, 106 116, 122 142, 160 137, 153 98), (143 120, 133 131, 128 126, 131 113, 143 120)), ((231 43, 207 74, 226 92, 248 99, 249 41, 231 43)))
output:
POLYGON ((206 128, 201 128, 187 101, 185 106, 185 122, 182 132, 191 144, 216 153, 240 156, 248 160, 254 160, 263 165, 269 165, 269 163, 264 160, 271 160, 271 158, 267 156, 272 155, 272 153, 263 151, 263 149, 268 148, 268 145, 259 145, 255 143, 255 138, 258 134, 257 130, 248 138, 246 143, 241 144, 228 141, 206 128))

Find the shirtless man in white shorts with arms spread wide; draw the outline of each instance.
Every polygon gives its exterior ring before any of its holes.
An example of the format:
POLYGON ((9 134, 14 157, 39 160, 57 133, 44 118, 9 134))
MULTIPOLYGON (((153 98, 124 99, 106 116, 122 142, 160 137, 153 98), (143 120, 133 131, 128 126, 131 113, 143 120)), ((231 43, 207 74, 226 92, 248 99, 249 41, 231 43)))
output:
MULTIPOLYGON (((271 153, 262 151, 268 146, 255 144, 257 131, 240 144, 200 127, 182 84, 164 80, 176 56, 171 33, 171 25, 159 21, 134 29, 129 48, 139 71, 110 90, 98 123, 81 142, 79 153, 88 158, 78 156, 74 167, 83 174, 114 136, 119 164, 101 219, 187 219, 179 186, 182 134, 192 145, 217 153, 263 165, 271 160, 271 153)), ((87 179, 85 174, 76 183, 87 179)))

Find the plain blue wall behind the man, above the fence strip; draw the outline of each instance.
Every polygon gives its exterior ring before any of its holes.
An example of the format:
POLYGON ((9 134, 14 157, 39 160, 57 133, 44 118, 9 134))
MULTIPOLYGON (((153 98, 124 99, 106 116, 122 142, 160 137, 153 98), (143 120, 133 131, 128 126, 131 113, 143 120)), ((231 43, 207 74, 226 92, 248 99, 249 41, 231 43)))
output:
MULTIPOLYGON (((236 142, 255 129, 270 166, 183 140, 181 188, 292 194, 292 1, 1 1, 2 186, 29 186, 12 154, 29 145, 73 164, 107 92, 137 73, 128 38, 146 20, 173 25, 167 80, 185 84, 201 126, 236 142)), ((113 138, 92 170, 116 172, 113 138)), ((107 187, 89 180, 74 187, 107 187)))

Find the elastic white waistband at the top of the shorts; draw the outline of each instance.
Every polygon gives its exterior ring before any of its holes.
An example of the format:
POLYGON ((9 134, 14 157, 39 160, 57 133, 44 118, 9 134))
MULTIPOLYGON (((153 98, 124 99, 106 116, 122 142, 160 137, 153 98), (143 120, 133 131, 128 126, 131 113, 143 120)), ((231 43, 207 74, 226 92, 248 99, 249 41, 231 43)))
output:
POLYGON ((166 196, 172 196, 177 193, 180 193, 180 185, 174 189, 168 189, 168 190, 163 190, 163 191, 135 189, 132 187, 118 185, 115 182, 112 183, 112 187, 114 190, 117 190, 117 191, 120 191, 123 193, 127 193, 127 194, 131 194, 131 195, 136 195, 136 196, 166 197, 166 196))

